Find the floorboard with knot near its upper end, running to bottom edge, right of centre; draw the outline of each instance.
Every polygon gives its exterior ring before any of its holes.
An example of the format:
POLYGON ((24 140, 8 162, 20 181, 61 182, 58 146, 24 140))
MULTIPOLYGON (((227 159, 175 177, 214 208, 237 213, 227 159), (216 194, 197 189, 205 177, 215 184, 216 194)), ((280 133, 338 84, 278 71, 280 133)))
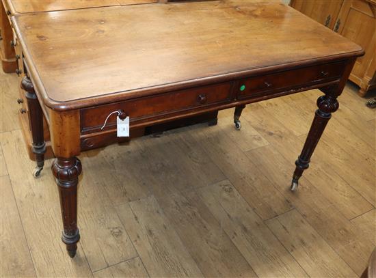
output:
POLYGON ((259 277, 307 277, 228 180, 200 195, 259 277))

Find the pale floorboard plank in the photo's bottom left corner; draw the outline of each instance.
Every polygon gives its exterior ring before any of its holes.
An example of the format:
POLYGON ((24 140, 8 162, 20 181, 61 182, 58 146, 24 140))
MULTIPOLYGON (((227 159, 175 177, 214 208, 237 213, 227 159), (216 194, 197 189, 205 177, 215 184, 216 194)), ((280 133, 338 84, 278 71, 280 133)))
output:
POLYGON ((8 176, 1 184, 1 277, 36 277, 8 176))

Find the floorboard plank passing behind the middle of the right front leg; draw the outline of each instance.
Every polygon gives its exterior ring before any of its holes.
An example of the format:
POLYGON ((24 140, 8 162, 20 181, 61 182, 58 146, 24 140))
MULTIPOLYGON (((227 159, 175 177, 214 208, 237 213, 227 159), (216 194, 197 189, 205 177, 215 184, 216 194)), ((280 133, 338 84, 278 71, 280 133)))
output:
MULTIPOLYGON (((265 139, 271 142, 273 148, 276 148, 278 152, 284 156, 286 159, 285 163, 287 164, 283 166, 289 167, 288 171, 290 171, 290 173, 288 173, 288 175, 291 175, 291 178, 295 169, 294 162, 301 152, 301 148, 306 140, 306 135, 300 137, 291 135, 289 130, 284 128, 276 118, 269 115, 268 111, 265 110, 250 111, 249 114, 245 115, 245 118, 249 122, 252 122, 256 130, 258 130, 265 139)), ((319 142, 312 156, 310 168, 304 172, 304 177, 312 181, 311 183, 314 184, 319 191, 325 193, 325 197, 331 199, 333 203, 338 206, 338 209, 345 214, 347 219, 352 219, 370 210, 373 207, 372 204, 370 204, 365 197, 360 195, 343 176, 340 176, 334 171, 332 163, 327 162, 328 150, 332 150, 333 147, 328 146, 328 148, 325 148, 325 146, 323 142, 319 142), (322 153, 323 156, 319 156, 319 153, 322 153), (329 183, 331 186, 327 186, 329 183)), ((266 149, 268 150, 269 148, 266 149)), ((254 163, 258 163, 257 160, 252 159, 250 156, 252 151, 247 152, 247 154, 254 163)), ((279 166, 276 165, 275 161, 268 160, 267 156, 265 156, 265 159, 267 163, 270 163, 270 167, 279 166)), ((354 176, 358 177, 358 173, 354 176)), ((285 184, 285 186, 288 186, 288 184, 285 184)), ((372 197, 368 197, 368 199, 371 198, 372 197)))

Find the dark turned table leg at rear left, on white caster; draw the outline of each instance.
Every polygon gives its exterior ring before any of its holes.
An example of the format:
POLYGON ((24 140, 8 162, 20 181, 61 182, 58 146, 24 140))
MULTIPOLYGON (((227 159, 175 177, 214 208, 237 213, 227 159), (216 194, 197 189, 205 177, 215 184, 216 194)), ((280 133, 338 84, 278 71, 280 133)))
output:
POLYGON ((36 154, 37 167, 33 171, 33 176, 38 177, 44 166, 44 153, 46 152, 46 143, 43 137, 43 113, 29 77, 24 77, 21 87, 27 92, 27 107, 29 108, 29 121, 31 126, 31 135, 33 137, 33 153, 36 154))

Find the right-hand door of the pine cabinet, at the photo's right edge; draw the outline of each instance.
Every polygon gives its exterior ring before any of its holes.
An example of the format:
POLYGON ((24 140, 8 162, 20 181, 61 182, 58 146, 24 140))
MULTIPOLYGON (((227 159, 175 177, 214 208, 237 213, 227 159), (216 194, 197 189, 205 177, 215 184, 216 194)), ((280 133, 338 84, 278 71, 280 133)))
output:
POLYGON ((366 51, 366 55, 356 60, 350 77, 360 85, 361 79, 375 59, 376 2, 347 0, 343 3, 338 20, 338 33, 359 44, 366 51))

